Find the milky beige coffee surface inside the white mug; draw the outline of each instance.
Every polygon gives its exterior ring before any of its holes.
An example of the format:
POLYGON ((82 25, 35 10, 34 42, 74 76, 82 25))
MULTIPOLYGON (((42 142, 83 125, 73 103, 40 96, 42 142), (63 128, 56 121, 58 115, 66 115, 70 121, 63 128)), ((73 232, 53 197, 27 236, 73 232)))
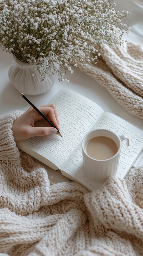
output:
POLYGON ((105 136, 97 136, 88 141, 86 152, 88 156, 105 160, 113 157, 118 151, 118 146, 114 140, 105 136))

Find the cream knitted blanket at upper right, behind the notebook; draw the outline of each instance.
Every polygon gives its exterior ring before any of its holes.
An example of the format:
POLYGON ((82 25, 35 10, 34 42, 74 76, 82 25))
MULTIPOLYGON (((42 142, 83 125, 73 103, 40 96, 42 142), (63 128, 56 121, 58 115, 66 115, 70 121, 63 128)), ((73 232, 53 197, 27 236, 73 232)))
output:
POLYGON ((128 42, 124 48, 100 45, 97 49, 101 53, 97 64, 94 61, 84 66, 81 62, 79 68, 104 86, 128 112, 143 119, 143 48, 128 42))

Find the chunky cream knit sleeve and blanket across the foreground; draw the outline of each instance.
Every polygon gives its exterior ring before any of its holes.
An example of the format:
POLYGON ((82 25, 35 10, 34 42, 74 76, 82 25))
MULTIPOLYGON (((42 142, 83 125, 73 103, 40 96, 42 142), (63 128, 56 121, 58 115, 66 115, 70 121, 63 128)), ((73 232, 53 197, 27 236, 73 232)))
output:
POLYGON ((90 193, 55 184, 16 148, 11 128, 20 114, 0 119, 0 255, 143 255, 143 166, 90 193))

